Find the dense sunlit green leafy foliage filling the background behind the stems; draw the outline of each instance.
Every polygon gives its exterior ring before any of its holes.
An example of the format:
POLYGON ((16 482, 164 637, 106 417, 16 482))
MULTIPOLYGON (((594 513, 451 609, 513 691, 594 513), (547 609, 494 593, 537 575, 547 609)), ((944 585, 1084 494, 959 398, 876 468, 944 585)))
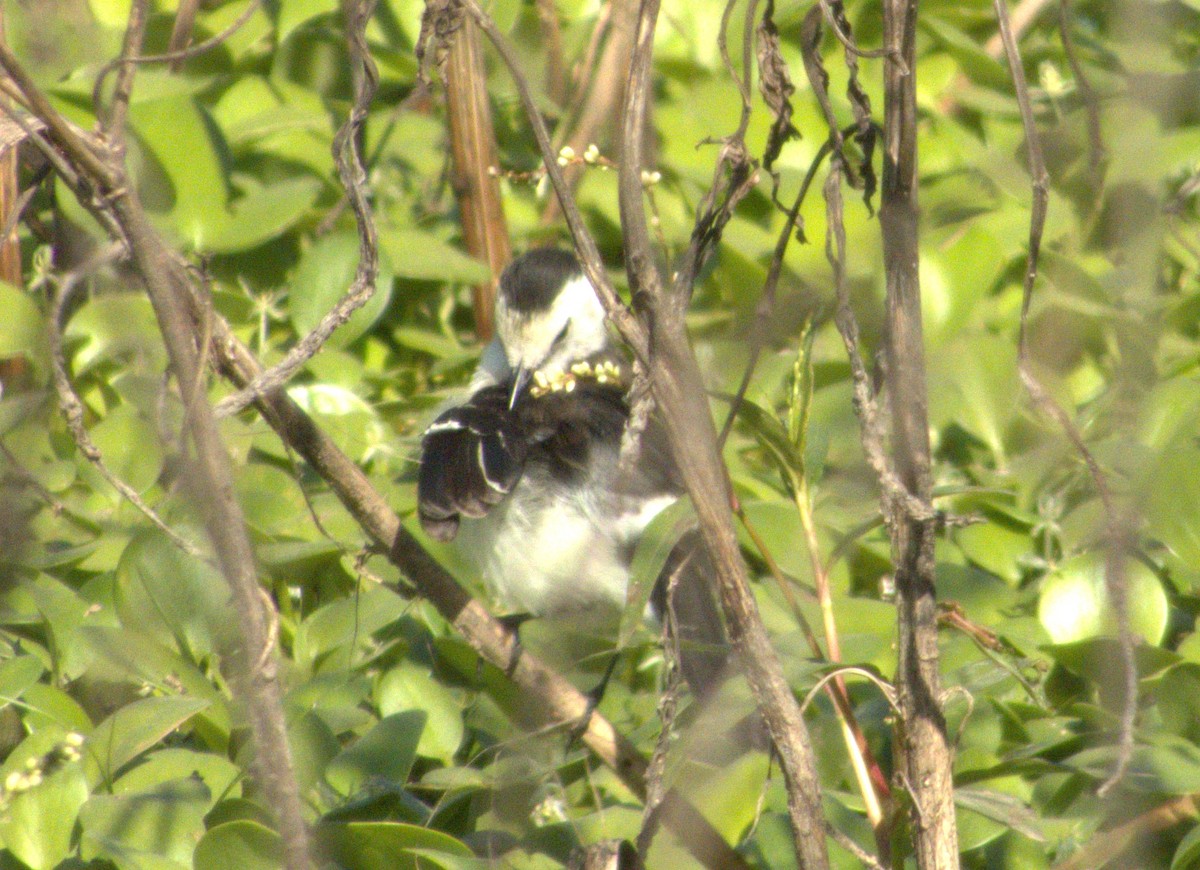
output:
MULTIPOLYGON (((56 23, 43 29, 32 5, 12 12, 10 38, 56 107, 90 127, 96 68, 119 50, 128 4, 61 6, 79 36, 59 32, 56 23)), ((697 143, 733 130, 739 101, 716 49, 722 4, 664 6, 672 26, 656 48, 661 181, 648 202, 670 256, 685 246, 710 180, 715 149, 697 143)), ((353 222, 340 205, 330 157, 349 100, 336 7, 331 0, 263 5, 181 73, 142 70, 133 91, 138 192, 158 228, 203 264, 216 308, 268 362, 312 328, 355 265, 353 222)), ((244 0, 205 6, 198 38, 245 8, 244 0)), ((779 56, 793 71, 806 8, 780 4, 774 13, 779 56)), ((150 50, 164 48, 173 11, 154 4, 150 50)), ((582 55, 599 5, 560 2, 558 11, 568 53, 582 55)), ((478 355, 469 284, 487 277, 463 253, 440 97, 403 102, 416 76, 420 12, 416 0, 385 0, 368 32, 380 68, 365 133, 385 260, 377 294, 290 388, 406 516, 418 436, 478 355)), ((498 0, 492 13, 536 73, 546 49, 534 5, 498 0)), ((846 14, 860 44, 877 41, 876 6, 851 2, 846 14)), ((1130 838, 1141 838, 1134 842, 1139 865, 1200 865, 1195 803, 1184 802, 1189 809, 1174 821, 1151 823, 1156 808, 1200 793, 1200 6, 1088 1, 1073 8, 1078 62, 1099 95, 1099 143, 1090 140, 1088 89, 1052 17, 1036 20, 1022 40, 1051 172, 1031 346, 1040 377, 1073 410, 1141 523, 1132 562, 1135 625, 1146 641, 1138 658, 1136 749, 1110 802, 1094 794, 1114 763, 1120 715, 1117 654, 1105 636, 1111 626, 1098 616, 1105 607, 1096 556, 1103 517, 1080 457, 1032 410, 1015 373, 1030 208, 1024 134, 1007 74, 984 49, 995 31, 985 7, 934 0, 920 16, 920 268, 938 506, 979 520, 952 528, 937 547, 940 596, 962 617, 947 619, 942 655, 958 734, 964 860, 1048 866, 1128 823, 1130 838)), ((730 42, 739 65, 738 40, 730 42)), ((835 50, 827 37, 827 56, 835 50)), ((882 104, 883 62, 859 59, 858 80, 874 106, 882 104)), ((834 109, 846 124, 854 107, 838 94, 847 74, 827 66, 834 109)), ((504 176, 510 227, 518 246, 533 244, 546 236, 545 191, 515 173, 538 158, 510 82, 490 73, 488 90, 502 169, 511 170, 504 176)), ((548 96, 542 106, 559 127, 570 121, 570 106, 548 96)), ((782 196, 798 188, 824 130, 803 89, 792 96, 791 124, 803 138, 775 156, 782 196)), ((760 152, 770 125, 764 110, 751 116, 748 140, 760 152)), ((613 150, 604 139, 598 145, 605 155, 613 150)), ((589 169, 578 191, 616 270, 614 175, 589 169)), ((772 180, 763 178, 697 289, 695 343, 716 396, 736 391, 749 358, 744 336, 784 226, 770 197, 772 180)), ((0 780, 7 784, 4 778, 72 732, 86 743, 80 762, 5 792, 0 860, 14 868, 72 860, 275 866, 271 809, 245 775, 247 728, 218 670, 233 642, 223 581, 106 482, 53 400, 47 294, 103 234, 60 188, 43 187, 30 211, 37 220, 22 229, 28 290, 0 286, 0 356, 28 365, 28 383, 6 385, 0 400, 7 503, 0 780), (43 235, 50 226, 53 239, 43 235)), ((821 203, 805 204, 802 217, 805 235, 821 239, 821 203)), ((883 287, 877 221, 852 208, 846 229, 847 278, 866 349, 875 350, 883 287)), ((762 577, 758 604, 803 695, 828 668, 810 660, 791 596, 767 570, 769 557, 797 587, 799 612, 820 625, 798 493, 811 499, 844 661, 890 674, 894 613, 878 493, 859 446, 821 246, 792 245, 782 275, 767 352, 726 457, 754 532, 744 545, 762 577), (794 386, 797 373, 803 389, 794 386)), ((202 546, 199 518, 178 487, 184 409, 162 383, 164 354, 150 305, 120 269, 89 271, 85 281, 65 325, 85 425, 108 467, 202 546)), ((214 383, 211 392, 216 398, 222 388, 214 383)), ((714 402, 719 418, 726 409, 714 402)), ((564 862, 577 844, 637 834, 640 808, 616 776, 563 734, 516 726, 511 716, 522 700, 503 674, 364 550, 353 520, 259 420, 247 413, 222 426, 262 581, 280 607, 298 776, 318 840, 335 860, 451 868, 484 856, 540 868, 564 862)), ((637 564, 661 558, 654 547, 676 533, 674 521, 664 521, 637 564)), ((433 542, 430 550, 481 590, 451 550, 433 542)), ((526 637, 590 688, 616 632, 584 644, 600 652, 582 659, 578 644, 558 649, 556 634, 532 625, 526 637)), ((629 644, 601 709, 649 752, 661 656, 629 619, 622 640, 629 644)), ((725 752, 732 712, 750 706, 744 688, 725 691, 684 728, 667 781, 684 787, 731 841, 745 838, 742 850, 752 863, 787 866, 782 788, 762 755, 725 752)), ((851 698, 890 769, 886 703, 870 684, 852 685, 851 698)), ((829 817, 870 847, 838 720, 823 700, 809 720, 829 817)), ((901 853, 902 840, 895 840, 901 853)), ((848 853, 835 848, 834 856, 857 865, 848 853)), ((677 866, 685 857, 662 833, 649 860, 677 866)))

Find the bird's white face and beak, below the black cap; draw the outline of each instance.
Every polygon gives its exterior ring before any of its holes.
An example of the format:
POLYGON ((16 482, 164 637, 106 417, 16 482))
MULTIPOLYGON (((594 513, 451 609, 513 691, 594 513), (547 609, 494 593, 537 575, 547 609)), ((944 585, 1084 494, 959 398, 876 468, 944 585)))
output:
POLYGON ((604 306, 582 275, 569 280, 544 310, 515 311, 502 294, 496 305, 496 332, 516 372, 512 401, 534 372, 565 372, 572 362, 610 343, 604 306))

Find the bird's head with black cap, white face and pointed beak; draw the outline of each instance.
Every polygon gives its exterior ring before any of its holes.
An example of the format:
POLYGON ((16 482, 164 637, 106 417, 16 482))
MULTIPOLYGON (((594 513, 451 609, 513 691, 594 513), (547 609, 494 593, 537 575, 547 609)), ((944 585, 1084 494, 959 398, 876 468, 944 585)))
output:
POLYGON ((604 306, 574 254, 535 248, 500 275, 496 334, 515 373, 510 407, 534 374, 568 371, 610 346, 604 306))

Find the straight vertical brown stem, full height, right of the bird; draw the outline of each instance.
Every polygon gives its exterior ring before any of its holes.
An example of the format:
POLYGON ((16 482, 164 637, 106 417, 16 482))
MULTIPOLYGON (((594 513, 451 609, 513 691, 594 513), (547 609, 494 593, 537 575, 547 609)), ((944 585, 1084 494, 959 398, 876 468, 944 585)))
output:
MULTIPOLYGON (((917 211, 916 0, 887 0, 884 151, 880 224, 887 271, 887 390, 893 462, 910 498, 929 505, 929 396, 920 319, 917 211)), ((937 518, 884 497, 895 564, 900 758, 918 866, 959 866, 952 752, 942 714, 934 542, 937 518)))

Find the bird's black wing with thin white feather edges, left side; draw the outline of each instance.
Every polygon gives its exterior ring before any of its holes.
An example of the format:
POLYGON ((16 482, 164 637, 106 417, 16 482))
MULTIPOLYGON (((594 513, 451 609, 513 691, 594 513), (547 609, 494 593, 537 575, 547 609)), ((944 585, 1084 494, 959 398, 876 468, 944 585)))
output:
POLYGON ((488 386, 425 431, 416 512, 432 538, 450 540, 461 516, 484 516, 512 491, 528 455, 522 430, 504 388, 488 386))

